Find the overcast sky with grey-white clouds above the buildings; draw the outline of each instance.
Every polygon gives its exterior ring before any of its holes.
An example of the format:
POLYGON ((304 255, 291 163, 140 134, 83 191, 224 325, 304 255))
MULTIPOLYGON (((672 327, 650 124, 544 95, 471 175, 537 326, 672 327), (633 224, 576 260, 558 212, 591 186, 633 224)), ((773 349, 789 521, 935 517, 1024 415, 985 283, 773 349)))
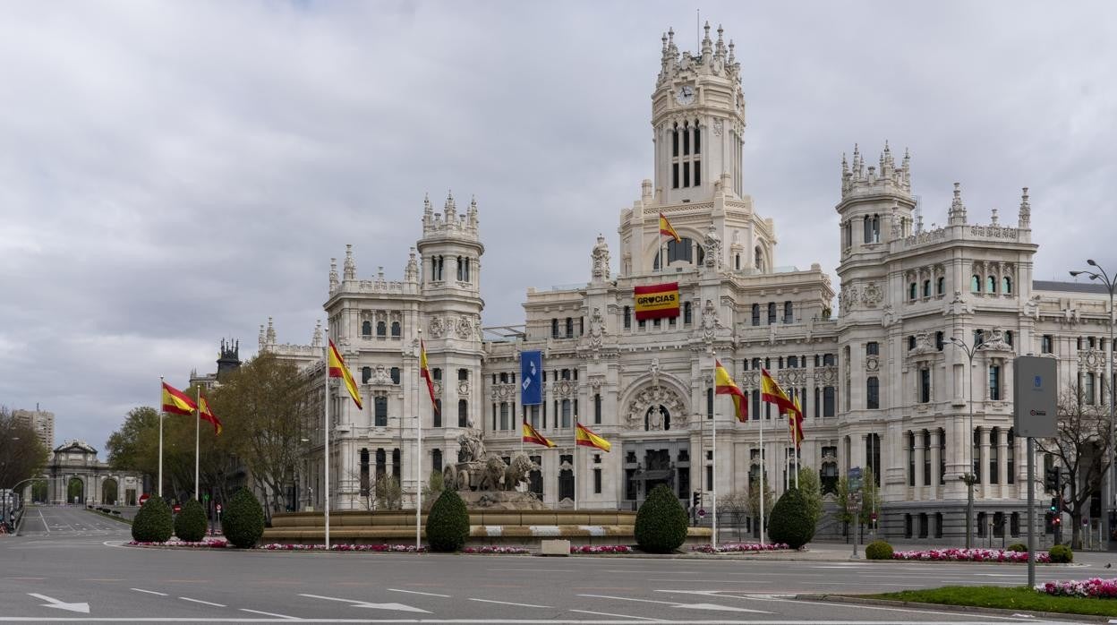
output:
POLYGON ((476 195, 484 322, 522 322, 617 245, 696 8, 737 44, 777 264, 833 274, 841 153, 888 139, 928 226, 955 181, 983 222, 1027 186, 1038 278, 1117 268, 1111 2, 29 0, 0 20, 0 405, 103 448, 222 337, 308 342, 346 243, 400 278, 427 191, 476 195))

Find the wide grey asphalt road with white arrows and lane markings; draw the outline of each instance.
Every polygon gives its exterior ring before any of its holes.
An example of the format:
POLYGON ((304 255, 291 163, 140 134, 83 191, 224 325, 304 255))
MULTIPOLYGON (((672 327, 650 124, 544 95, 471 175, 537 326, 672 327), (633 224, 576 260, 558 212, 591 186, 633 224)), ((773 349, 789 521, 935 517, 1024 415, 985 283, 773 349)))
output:
MULTIPOLYGON (((1027 580, 1019 565, 140 549, 122 546, 126 525, 86 529, 99 518, 80 509, 40 511, 49 533, 0 540, 0 622, 1039 621, 793 597, 945 584, 1016 586, 1027 580)), ((1040 580, 1109 572, 1100 568, 1100 555, 1092 560, 1087 567, 1039 567, 1040 580)))

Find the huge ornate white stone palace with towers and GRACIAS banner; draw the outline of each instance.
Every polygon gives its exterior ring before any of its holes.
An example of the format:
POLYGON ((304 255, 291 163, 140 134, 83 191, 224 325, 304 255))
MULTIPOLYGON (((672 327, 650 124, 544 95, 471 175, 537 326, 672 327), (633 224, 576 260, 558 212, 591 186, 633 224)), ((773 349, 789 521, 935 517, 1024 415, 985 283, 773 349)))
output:
MULTIPOLYGON (((332 261, 328 335, 366 403, 357 410, 336 390, 331 399, 335 505, 367 505, 384 474, 400 476, 412 496, 432 470, 455 461, 462 428, 483 429, 489 451, 509 456, 522 448, 525 418, 557 443, 525 449, 542 466, 532 489, 550 505, 630 509, 658 483, 687 501, 698 491, 708 505, 715 481, 728 494, 758 479, 762 428, 765 471, 780 493, 793 480, 794 456, 785 422, 760 401, 766 368, 803 404, 801 462, 820 472, 825 490, 850 467, 873 471, 882 534, 961 540, 966 492, 958 477, 971 467, 980 477, 978 536, 992 521, 996 532, 1019 533, 1025 462, 1024 442, 1012 432, 1012 358, 1056 358, 1065 385, 1081 379, 1090 401, 1105 401, 1108 321, 1100 291, 1033 281, 1028 190, 1013 222, 995 210, 974 222, 955 184, 944 225, 927 227, 908 153, 897 163, 886 143, 869 164, 855 146, 851 162, 842 157, 836 206, 836 314, 828 274, 817 263, 780 265, 776 224, 745 193, 739 64, 720 28, 712 36, 707 26, 696 53, 680 53, 672 34, 663 36, 651 102, 655 178, 620 210, 617 252, 599 235, 584 283, 528 288, 523 326, 483 335, 476 202, 459 212, 452 197, 441 211, 424 200, 422 235, 400 281, 383 267, 359 278, 352 246, 341 275, 332 261), (681 242, 663 245, 660 214, 681 242), (679 315, 637 321, 633 287, 665 282, 678 283, 679 315), (419 378, 420 337, 439 416, 419 378), (982 342, 972 363, 952 337, 982 342), (523 350, 544 353, 541 406, 519 403, 523 350), (714 395, 715 360, 747 394, 746 423, 714 395), (575 420, 611 441, 612 453, 576 448, 575 420)), ((820 207, 819 217, 827 211, 820 207)), ((317 375, 323 342, 315 330, 313 345, 277 345, 270 322, 261 328, 260 350, 317 375)), ((318 506, 321 454, 319 429, 302 471, 318 506)))

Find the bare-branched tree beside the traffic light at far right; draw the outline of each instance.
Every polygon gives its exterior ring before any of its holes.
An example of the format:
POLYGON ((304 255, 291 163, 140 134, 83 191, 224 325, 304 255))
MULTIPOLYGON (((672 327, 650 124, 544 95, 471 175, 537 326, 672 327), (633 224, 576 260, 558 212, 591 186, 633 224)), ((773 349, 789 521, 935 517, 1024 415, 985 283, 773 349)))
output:
MULTIPOLYGON (((1101 397, 1106 397, 1108 385, 1102 381, 1101 387, 1101 397)), ((1081 549, 1082 517, 1089 514, 1090 499, 1109 471, 1109 406, 1087 403, 1071 385, 1059 395, 1056 415, 1056 436, 1037 438, 1035 446, 1054 456, 1056 465, 1069 474, 1062 495, 1070 506, 1070 544, 1081 549)))

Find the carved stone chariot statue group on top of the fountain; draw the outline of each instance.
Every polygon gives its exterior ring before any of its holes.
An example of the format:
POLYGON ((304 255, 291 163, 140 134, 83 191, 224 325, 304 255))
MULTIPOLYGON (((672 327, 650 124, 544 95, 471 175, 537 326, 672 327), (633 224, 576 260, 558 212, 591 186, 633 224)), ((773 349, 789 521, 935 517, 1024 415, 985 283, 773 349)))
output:
POLYGON ((545 510, 535 493, 527 490, 531 473, 540 471, 527 454, 518 452, 506 463, 485 451, 485 442, 474 427, 458 436, 458 462, 442 470, 442 487, 458 491, 466 508, 545 510))

